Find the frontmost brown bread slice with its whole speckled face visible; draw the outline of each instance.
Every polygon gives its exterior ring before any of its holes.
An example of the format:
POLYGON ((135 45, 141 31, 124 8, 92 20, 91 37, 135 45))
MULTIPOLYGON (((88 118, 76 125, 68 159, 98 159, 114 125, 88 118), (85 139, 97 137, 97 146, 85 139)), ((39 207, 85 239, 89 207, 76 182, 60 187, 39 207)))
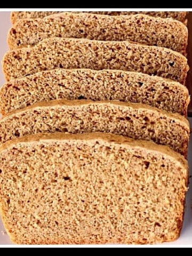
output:
POLYGON ((18 244, 147 244, 177 239, 187 161, 118 135, 36 134, 0 147, 0 202, 18 244))

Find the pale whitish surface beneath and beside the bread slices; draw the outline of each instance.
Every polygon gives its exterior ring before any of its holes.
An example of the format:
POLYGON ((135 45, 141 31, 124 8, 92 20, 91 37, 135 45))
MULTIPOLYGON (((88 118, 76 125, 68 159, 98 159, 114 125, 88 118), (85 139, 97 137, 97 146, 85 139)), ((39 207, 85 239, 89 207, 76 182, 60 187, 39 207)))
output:
MULTIPOLYGON (((4 53, 8 50, 6 37, 9 28, 11 27, 10 22, 10 12, 0 12, 0 38, 1 38, 1 45, 0 45, 0 59, 2 60, 4 53)), ((0 70, 0 86, 5 82, 4 75, 2 74, 2 68, 0 70)), ((192 118, 190 120, 192 126, 192 118)), ((192 175, 192 138, 190 137, 189 143, 189 167, 190 167, 190 175, 192 175)), ((191 181, 191 178, 189 179, 191 181)), ((186 200, 186 210, 185 210, 185 218, 183 223, 183 228, 181 231, 180 238, 172 243, 164 243, 163 245, 192 245, 192 182, 189 184, 189 191, 187 193, 187 200, 186 200)), ((0 246, 1 245, 11 245, 11 241, 9 236, 4 234, 4 227, 3 223, 0 218, 0 246)), ((162 246, 163 246, 162 245, 162 246)))

